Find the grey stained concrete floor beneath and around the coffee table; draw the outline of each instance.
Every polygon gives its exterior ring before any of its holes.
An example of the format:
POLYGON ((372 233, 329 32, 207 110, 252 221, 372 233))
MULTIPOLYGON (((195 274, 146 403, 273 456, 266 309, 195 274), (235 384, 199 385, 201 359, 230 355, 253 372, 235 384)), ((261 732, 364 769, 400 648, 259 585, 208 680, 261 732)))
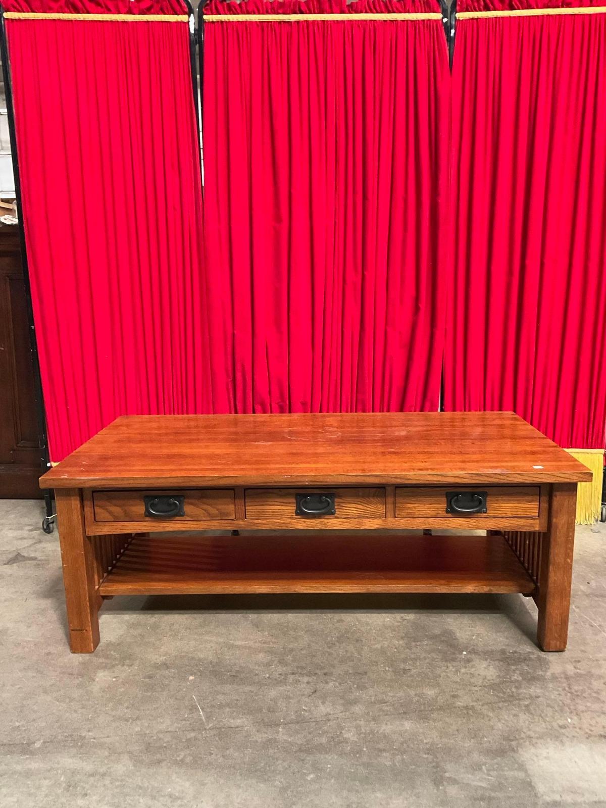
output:
POLYGON ((57 534, 0 502, 2 808, 606 806, 606 526, 570 644, 520 595, 115 598, 69 654, 57 534))

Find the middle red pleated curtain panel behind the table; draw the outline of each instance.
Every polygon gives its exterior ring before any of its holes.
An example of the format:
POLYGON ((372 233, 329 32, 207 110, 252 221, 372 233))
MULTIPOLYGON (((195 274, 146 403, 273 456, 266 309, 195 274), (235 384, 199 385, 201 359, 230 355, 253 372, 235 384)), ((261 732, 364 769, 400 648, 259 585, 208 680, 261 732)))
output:
POLYGON ((436 410, 448 57, 437 2, 211 2, 204 262, 213 410, 436 410))

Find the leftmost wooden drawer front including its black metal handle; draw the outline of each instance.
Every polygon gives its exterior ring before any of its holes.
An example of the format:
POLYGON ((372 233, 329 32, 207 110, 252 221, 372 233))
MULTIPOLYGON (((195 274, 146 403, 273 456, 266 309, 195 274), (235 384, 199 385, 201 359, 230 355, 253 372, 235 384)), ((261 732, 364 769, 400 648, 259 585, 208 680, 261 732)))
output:
POLYGON ((233 490, 94 491, 95 522, 235 519, 233 490))

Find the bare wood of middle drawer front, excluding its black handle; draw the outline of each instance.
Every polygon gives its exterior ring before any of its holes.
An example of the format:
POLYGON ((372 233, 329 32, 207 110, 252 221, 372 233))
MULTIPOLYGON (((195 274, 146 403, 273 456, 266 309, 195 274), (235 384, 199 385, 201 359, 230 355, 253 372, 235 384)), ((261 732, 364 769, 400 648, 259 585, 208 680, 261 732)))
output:
POLYGON ((296 494, 335 494, 335 516, 314 520, 297 516, 309 527, 310 522, 338 519, 381 518, 385 516, 385 488, 249 488, 244 492, 247 519, 291 520, 295 516, 296 494))

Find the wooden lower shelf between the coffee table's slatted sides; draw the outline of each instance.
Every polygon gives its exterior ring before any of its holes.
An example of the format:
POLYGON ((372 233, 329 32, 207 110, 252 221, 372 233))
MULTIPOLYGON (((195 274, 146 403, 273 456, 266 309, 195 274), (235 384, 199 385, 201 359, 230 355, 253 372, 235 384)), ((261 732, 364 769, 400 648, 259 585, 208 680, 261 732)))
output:
MULTIPOLYGON (((93 539, 92 541, 95 541, 93 539)), ((501 536, 135 537, 101 595, 522 592, 535 584, 501 536)))

